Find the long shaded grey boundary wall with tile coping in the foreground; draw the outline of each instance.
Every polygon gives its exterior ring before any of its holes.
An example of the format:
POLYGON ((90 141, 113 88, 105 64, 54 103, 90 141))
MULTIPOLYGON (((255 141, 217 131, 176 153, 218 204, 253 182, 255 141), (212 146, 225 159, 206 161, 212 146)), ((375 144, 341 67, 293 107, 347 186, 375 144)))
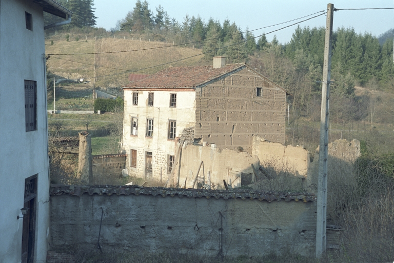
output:
POLYGON ((221 248, 227 256, 315 252, 313 194, 52 186, 50 204, 53 248, 95 249, 103 209, 102 248, 209 256, 221 248))

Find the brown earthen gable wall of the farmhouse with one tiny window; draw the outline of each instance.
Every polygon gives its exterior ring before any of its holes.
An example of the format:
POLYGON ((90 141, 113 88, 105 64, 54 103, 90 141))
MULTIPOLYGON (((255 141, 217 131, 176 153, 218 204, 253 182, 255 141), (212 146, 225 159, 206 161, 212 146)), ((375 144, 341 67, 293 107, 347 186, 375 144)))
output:
POLYGON ((253 136, 285 143, 286 92, 242 69, 196 93, 196 138, 252 153, 253 136), (262 96, 256 96, 256 88, 262 96))

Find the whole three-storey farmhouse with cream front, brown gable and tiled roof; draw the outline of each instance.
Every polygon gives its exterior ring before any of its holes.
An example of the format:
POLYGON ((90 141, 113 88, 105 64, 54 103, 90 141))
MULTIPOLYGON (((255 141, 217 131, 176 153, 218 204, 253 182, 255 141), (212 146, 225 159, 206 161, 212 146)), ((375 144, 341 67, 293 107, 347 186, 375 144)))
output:
POLYGON ((286 90, 245 63, 169 67, 123 87, 131 176, 167 178, 178 141, 252 152, 253 136, 285 143, 286 90))

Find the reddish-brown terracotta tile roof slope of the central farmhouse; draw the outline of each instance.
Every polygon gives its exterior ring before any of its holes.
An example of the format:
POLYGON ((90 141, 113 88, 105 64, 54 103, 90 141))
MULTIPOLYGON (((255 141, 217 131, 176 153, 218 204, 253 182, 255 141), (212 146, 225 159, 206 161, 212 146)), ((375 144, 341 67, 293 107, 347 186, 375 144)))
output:
POLYGON ((215 69, 212 66, 169 67, 124 88, 194 88, 242 66, 245 63, 228 64, 215 69))

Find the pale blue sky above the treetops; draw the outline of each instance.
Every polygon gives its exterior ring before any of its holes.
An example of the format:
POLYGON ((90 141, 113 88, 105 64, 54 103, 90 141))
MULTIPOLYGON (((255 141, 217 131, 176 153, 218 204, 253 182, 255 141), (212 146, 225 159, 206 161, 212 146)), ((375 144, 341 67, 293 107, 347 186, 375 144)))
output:
MULTIPOLYGON (((98 17, 96 26, 107 30, 115 27, 116 22, 133 9, 135 2, 135 0, 94 0, 95 15, 98 17)), ((329 3, 322 0, 147 0, 147 2, 153 14, 156 14, 155 8, 161 5, 171 18, 176 18, 180 23, 187 13, 190 17, 200 15, 205 22, 208 22, 210 17, 218 19, 221 23, 228 18, 231 23, 235 22, 242 30, 247 27, 252 30, 270 26, 327 10, 329 3)), ((336 0, 331 3, 334 4, 334 8, 339 9, 394 7, 394 0, 336 0)), ((253 33, 258 36, 292 23, 257 30, 253 33)), ((300 26, 325 27, 325 23, 326 17, 322 15, 303 22, 300 26)), ((267 39, 270 41, 276 34, 280 43, 287 43, 295 27, 297 26, 268 34, 267 39)), ((394 28, 394 10, 339 10, 334 12, 333 29, 336 30, 339 27, 352 27, 358 33, 368 32, 379 36, 394 28)))

